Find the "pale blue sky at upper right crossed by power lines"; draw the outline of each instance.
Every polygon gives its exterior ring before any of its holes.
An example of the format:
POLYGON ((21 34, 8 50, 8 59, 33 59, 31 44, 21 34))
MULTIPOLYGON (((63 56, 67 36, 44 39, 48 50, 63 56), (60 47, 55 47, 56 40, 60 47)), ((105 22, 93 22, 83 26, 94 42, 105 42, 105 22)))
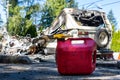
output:
POLYGON ((89 6, 87 9, 104 11, 106 14, 112 10, 114 17, 118 22, 117 28, 120 29, 120 0, 76 0, 76 2, 78 2, 79 9, 82 9, 84 4, 90 3, 88 5, 84 5, 84 8, 89 6), (91 5, 91 3, 93 4, 91 5), (101 9, 98 9, 96 6, 101 9))

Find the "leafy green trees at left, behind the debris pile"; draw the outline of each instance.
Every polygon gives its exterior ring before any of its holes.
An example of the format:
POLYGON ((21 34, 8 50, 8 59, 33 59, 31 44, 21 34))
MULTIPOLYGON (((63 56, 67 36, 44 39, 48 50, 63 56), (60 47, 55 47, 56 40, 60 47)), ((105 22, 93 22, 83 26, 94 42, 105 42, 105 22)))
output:
POLYGON ((12 0, 12 6, 9 8, 8 32, 11 35, 26 36, 27 34, 30 34, 31 37, 36 37, 37 31, 36 26, 33 24, 32 15, 40 10, 39 5, 34 4, 20 7, 17 5, 16 1, 18 2, 18 0, 12 0), (25 13, 21 14, 21 11, 24 11, 25 13))

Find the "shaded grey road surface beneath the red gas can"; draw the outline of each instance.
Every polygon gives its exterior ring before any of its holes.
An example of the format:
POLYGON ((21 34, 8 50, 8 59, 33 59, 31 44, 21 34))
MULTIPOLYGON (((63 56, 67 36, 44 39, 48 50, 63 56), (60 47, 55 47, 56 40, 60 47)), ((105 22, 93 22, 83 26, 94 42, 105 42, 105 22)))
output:
POLYGON ((100 66, 90 75, 62 76, 58 73, 54 57, 33 64, 0 64, 0 80, 80 80, 120 79, 120 69, 100 66))

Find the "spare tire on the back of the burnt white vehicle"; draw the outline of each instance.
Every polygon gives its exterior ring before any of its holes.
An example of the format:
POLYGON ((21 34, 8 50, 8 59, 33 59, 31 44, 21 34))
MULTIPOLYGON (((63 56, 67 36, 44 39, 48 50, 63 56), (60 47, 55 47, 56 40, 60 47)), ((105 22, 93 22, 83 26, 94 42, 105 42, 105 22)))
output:
POLYGON ((109 34, 106 30, 101 29, 95 34, 95 41, 98 48, 105 48, 109 44, 109 34))

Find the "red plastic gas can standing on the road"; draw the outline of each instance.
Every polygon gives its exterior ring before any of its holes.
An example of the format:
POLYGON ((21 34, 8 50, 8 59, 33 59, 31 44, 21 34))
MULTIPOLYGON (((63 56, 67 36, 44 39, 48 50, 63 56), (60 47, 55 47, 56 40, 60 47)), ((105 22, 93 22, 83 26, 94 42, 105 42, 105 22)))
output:
POLYGON ((56 64, 60 74, 91 74, 96 67, 96 43, 91 38, 58 40, 56 64))

